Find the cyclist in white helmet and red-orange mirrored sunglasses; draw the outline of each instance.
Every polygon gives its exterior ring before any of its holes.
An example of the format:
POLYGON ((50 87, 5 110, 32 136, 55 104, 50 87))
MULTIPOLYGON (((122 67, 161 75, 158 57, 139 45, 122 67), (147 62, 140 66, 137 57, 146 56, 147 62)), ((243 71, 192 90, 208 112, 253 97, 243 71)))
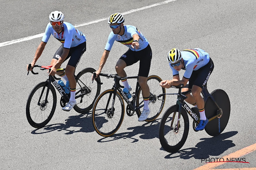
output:
MULTIPOLYGON (((80 61, 83 53, 86 51, 86 38, 85 35, 77 30, 72 24, 68 22, 63 22, 64 14, 60 11, 54 11, 49 15, 50 22, 48 23, 45 34, 43 35, 42 42, 35 51, 34 59, 31 62, 31 69, 34 67, 38 58, 41 56, 44 47, 51 36, 51 34, 59 40, 62 45, 56 51, 51 61, 51 72, 49 75, 55 75, 56 69, 60 68, 61 64, 68 60, 66 73, 65 71, 58 72, 65 81, 69 81, 70 86, 70 100, 65 107, 62 107, 64 111, 70 111, 74 105, 75 101, 75 88, 76 81, 74 78, 74 72, 77 64, 80 61)), ((27 65, 28 70, 28 65, 27 65)))

